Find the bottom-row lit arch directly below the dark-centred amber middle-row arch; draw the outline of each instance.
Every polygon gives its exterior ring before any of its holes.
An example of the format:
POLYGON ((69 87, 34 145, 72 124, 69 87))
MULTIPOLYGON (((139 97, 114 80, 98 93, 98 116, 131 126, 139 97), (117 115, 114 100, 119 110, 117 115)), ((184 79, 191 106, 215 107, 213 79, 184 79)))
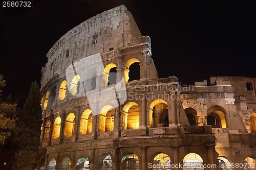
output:
POLYGON ((154 170, 170 169, 170 157, 167 154, 160 153, 155 156, 152 163, 154 170))

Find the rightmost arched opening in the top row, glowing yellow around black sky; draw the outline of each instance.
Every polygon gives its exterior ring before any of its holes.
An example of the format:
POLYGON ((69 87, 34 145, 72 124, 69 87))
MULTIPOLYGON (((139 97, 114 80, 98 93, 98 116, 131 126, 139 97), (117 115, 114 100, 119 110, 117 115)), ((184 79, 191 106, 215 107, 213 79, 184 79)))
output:
POLYGON ((124 68, 124 82, 140 79, 140 61, 136 58, 128 60, 124 68))

